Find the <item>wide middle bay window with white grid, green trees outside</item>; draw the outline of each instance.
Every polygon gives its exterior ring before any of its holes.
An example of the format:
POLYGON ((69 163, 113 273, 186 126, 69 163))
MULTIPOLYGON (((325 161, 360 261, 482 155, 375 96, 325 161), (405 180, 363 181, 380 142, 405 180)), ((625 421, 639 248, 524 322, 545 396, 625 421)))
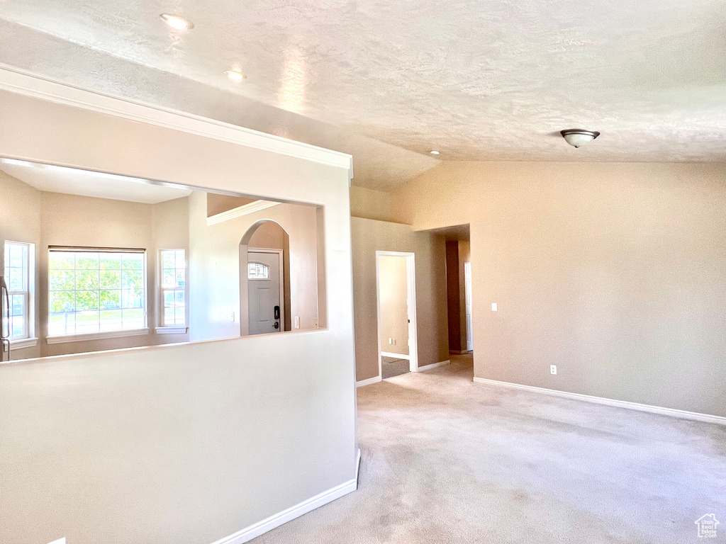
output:
POLYGON ((146 327, 144 250, 52 248, 48 273, 49 337, 146 327))

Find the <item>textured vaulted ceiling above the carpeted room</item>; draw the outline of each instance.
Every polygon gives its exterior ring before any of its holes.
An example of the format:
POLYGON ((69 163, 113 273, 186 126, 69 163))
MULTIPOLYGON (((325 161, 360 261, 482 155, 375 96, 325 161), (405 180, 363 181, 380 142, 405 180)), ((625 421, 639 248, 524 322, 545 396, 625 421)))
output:
MULTIPOLYGON (((401 154, 409 161, 401 177, 435 165, 429 149, 443 160, 726 160, 722 0, 0 0, 0 7, 1 62, 76 83, 111 82, 106 90, 155 102, 165 102, 176 75, 189 81, 174 99, 184 110, 218 104, 217 118, 234 118, 236 101, 262 103, 303 116, 299 125, 309 118, 351 139, 416 152, 401 154), (161 12, 196 26, 174 32, 161 12), (62 59, 49 61, 58 54, 40 34, 66 44, 62 59), (94 55, 107 62, 84 72, 94 55), (248 79, 228 81, 228 68, 248 79), (213 95, 205 105, 202 88, 213 95), (603 135, 574 149, 557 134, 574 127, 603 135)), ((309 128, 305 138, 319 125, 309 128)), ((401 181, 375 176, 361 184, 401 181)))

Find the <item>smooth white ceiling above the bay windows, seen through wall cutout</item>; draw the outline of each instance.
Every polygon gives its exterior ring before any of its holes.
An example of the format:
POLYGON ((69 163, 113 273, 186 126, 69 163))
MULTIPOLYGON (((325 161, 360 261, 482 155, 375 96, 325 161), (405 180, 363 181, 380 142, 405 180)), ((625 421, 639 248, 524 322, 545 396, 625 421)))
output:
POLYGON ((188 189, 150 184, 136 178, 124 178, 73 168, 0 162, 0 170, 39 191, 78 194, 82 197, 158 204, 166 202, 166 200, 187 197, 192 193, 188 189))

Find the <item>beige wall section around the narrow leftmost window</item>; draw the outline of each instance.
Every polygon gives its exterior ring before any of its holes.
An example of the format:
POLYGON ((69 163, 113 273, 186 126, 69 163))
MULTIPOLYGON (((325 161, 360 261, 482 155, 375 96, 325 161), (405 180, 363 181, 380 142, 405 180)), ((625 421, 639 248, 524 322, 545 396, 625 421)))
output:
MULTIPOLYGON (((35 286, 37 291, 40 279, 37 263, 41 252, 41 191, 0 171, 0 243, 3 245, 0 248, 0 275, 4 274, 5 269, 4 244, 6 240, 35 244, 35 286)), ((32 326, 33 334, 36 337, 39 334, 39 302, 38 297, 35 297, 32 326)), ((17 360, 39 357, 40 350, 40 343, 24 348, 13 346, 11 358, 17 360)))

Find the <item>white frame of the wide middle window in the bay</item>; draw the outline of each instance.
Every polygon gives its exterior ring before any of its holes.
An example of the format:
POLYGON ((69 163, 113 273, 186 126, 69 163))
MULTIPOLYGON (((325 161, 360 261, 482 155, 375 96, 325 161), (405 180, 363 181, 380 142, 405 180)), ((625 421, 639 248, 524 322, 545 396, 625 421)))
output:
MULTIPOLYGON (((94 269, 89 269, 94 270, 94 269)), ((101 269, 99 268, 99 271, 101 269)), ((123 271, 123 268, 121 268, 123 271)), ((107 339, 107 338, 118 338, 118 337, 131 337, 131 336, 142 336, 144 334, 149 333, 149 297, 148 297, 148 263, 147 263, 147 250, 141 249, 141 248, 128 248, 128 247, 83 247, 83 246, 49 246, 48 247, 48 265, 46 268, 46 276, 48 281, 48 305, 46 308, 46 314, 48 316, 48 322, 47 322, 47 336, 46 336, 46 342, 48 344, 62 344, 65 342, 84 342, 87 340, 96 340, 96 339, 107 339), (51 255, 54 252, 62 252, 62 253, 73 253, 74 254, 74 263, 73 263, 73 271, 74 273, 78 270, 83 270, 83 268, 78 269, 76 268, 76 257, 75 255, 78 253, 129 253, 134 255, 142 255, 142 310, 143 310, 143 316, 144 316, 144 322, 143 326, 138 327, 136 329, 108 329, 105 331, 82 331, 82 332, 66 332, 65 334, 50 334, 50 321, 51 321, 51 302, 52 302, 52 285, 51 285, 51 267, 50 267, 50 260, 51 255)), ((99 284, 98 289, 91 289, 96 290, 99 292, 105 291, 105 290, 121 290, 123 292, 123 275, 122 277, 122 284, 120 289, 101 289, 101 286, 99 284)), ((75 276, 74 276, 75 278, 75 276)), ((75 279, 74 279, 75 281, 75 279)), ((74 289, 74 292, 78 291, 79 289, 74 289)), ((84 290, 84 289, 81 289, 84 290)), ((120 310, 123 310, 123 302, 122 302, 122 308, 120 310)), ((133 308, 128 308, 133 309, 133 308)), ((81 310, 84 311, 84 310, 81 310)), ((99 305, 99 312, 101 311, 100 305, 99 305)), ((78 310, 74 310, 73 313, 78 313, 78 310)), ((100 317, 100 316, 99 316, 100 317)), ((100 319, 99 319, 99 327, 100 327, 100 319)))

